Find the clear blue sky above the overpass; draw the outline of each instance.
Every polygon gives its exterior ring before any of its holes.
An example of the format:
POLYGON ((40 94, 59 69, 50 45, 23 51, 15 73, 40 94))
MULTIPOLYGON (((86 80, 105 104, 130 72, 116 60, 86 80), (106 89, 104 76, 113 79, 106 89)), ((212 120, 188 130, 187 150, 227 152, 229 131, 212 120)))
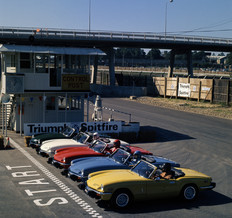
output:
POLYGON ((170 35, 232 38, 232 0, 0 0, 0 5, 0 27, 164 34, 166 26, 170 35))

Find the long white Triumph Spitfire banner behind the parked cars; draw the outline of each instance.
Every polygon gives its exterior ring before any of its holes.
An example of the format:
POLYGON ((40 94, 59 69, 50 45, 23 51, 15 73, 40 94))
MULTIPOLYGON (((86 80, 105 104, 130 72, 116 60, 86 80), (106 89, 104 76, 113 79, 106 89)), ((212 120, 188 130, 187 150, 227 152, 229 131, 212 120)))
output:
POLYGON ((41 133, 62 132, 66 126, 75 128, 77 131, 80 127, 85 127, 87 132, 98 133, 119 133, 122 131, 121 121, 112 122, 75 122, 75 123, 25 123, 24 135, 31 136, 41 133))

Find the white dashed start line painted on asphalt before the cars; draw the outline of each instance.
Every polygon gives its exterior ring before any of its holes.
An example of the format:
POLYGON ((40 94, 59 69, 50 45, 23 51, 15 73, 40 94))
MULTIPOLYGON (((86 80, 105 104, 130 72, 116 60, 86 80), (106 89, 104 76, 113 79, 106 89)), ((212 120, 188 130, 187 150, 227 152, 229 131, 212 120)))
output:
POLYGON ((34 163, 45 175, 47 175, 60 189, 62 189, 74 202, 76 202, 82 209, 84 209, 92 217, 102 218, 88 203, 77 196, 68 186, 61 182, 49 170, 47 170, 40 162, 32 157, 26 150, 18 145, 14 140, 10 139, 11 144, 17 148, 23 155, 25 155, 32 163, 34 163))

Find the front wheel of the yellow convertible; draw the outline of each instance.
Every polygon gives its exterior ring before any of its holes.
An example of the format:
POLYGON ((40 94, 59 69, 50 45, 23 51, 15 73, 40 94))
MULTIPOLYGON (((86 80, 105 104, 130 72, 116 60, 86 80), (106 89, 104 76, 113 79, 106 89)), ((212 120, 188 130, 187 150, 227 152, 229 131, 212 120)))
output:
POLYGON ((110 203, 114 208, 127 208, 133 202, 133 196, 128 190, 118 190, 111 197, 110 203))

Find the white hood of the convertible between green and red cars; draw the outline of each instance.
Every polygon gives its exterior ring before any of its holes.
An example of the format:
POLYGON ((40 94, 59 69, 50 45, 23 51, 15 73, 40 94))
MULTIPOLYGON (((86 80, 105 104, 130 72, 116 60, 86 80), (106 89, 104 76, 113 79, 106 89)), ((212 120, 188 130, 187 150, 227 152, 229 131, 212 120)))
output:
MULTIPOLYGON (((72 147, 72 146, 85 146, 85 144, 77 142, 73 139, 53 139, 44 141, 40 147, 43 151, 48 151, 50 149, 56 150, 59 148, 72 147)), ((87 145, 86 145, 87 146, 87 145)))

